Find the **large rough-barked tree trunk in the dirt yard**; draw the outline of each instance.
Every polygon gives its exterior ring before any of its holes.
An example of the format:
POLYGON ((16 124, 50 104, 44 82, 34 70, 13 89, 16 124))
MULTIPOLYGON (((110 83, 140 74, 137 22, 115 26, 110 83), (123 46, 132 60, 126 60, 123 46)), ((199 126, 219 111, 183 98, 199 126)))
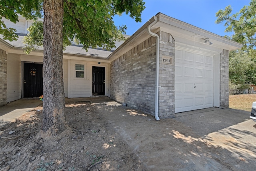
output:
POLYGON ((44 0, 44 66, 42 130, 58 135, 66 129, 63 84, 63 0, 44 0))

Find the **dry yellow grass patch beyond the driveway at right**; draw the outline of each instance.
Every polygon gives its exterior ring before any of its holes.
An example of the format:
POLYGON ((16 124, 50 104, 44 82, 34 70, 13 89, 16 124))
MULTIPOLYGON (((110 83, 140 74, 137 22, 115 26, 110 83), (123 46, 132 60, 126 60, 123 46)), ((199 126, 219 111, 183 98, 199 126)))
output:
POLYGON ((251 111, 256 94, 229 95, 229 108, 251 111))

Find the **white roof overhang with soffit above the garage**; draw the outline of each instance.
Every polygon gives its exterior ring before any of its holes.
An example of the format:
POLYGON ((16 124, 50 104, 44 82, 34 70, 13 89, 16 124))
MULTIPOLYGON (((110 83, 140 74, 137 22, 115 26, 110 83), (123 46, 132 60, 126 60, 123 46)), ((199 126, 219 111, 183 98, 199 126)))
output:
POLYGON ((242 45, 237 42, 166 16, 162 13, 158 13, 110 54, 108 60, 115 60, 128 50, 149 38, 150 35, 147 33, 148 26, 150 26, 150 30, 154 33, 159 31, 170 33, 175 40, 176 46, 194 47, 211 52, 212 54, 220 53, 223 49, 232 51, 242 48, 242 45), (206 38, 213 44, 209 45, 208 42, 205 43, 206 38))

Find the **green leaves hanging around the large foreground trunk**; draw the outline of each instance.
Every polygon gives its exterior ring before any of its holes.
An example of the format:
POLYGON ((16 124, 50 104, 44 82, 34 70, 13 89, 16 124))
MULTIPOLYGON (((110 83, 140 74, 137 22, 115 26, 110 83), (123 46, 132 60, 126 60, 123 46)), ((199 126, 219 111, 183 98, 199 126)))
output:
MULTIPOLYGON (((33 19, 41 17, 43 0, 0 0, 0 15, 18 22, 18 15, 33 19)), ((107 50, 115 47, 115 41, 124 40, 126 26, 115 26, 113 16, 125 12, 136 22, 141 22, 141 12, 144 10, 142 0, 64 0, 63 17, 63 45, 67 46, 71 40, 89 47, 102 47, 107 50)), ((16 40, 16 30, 6 28, 0 20, 2 29, 0 34, 4 39, 16 40)), ((35 22, 29 28, 29 34, 24 38, 26 53, 37 46, 42 46, 42 22, 35 22)))

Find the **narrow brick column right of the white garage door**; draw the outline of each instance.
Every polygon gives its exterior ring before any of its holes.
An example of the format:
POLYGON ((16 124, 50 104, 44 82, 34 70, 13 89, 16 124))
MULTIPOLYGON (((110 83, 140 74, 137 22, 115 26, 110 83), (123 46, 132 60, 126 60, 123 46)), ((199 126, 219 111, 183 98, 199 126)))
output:
POLYGON ((228 107, 228 50, 220 53, 220 108, 228 107))

